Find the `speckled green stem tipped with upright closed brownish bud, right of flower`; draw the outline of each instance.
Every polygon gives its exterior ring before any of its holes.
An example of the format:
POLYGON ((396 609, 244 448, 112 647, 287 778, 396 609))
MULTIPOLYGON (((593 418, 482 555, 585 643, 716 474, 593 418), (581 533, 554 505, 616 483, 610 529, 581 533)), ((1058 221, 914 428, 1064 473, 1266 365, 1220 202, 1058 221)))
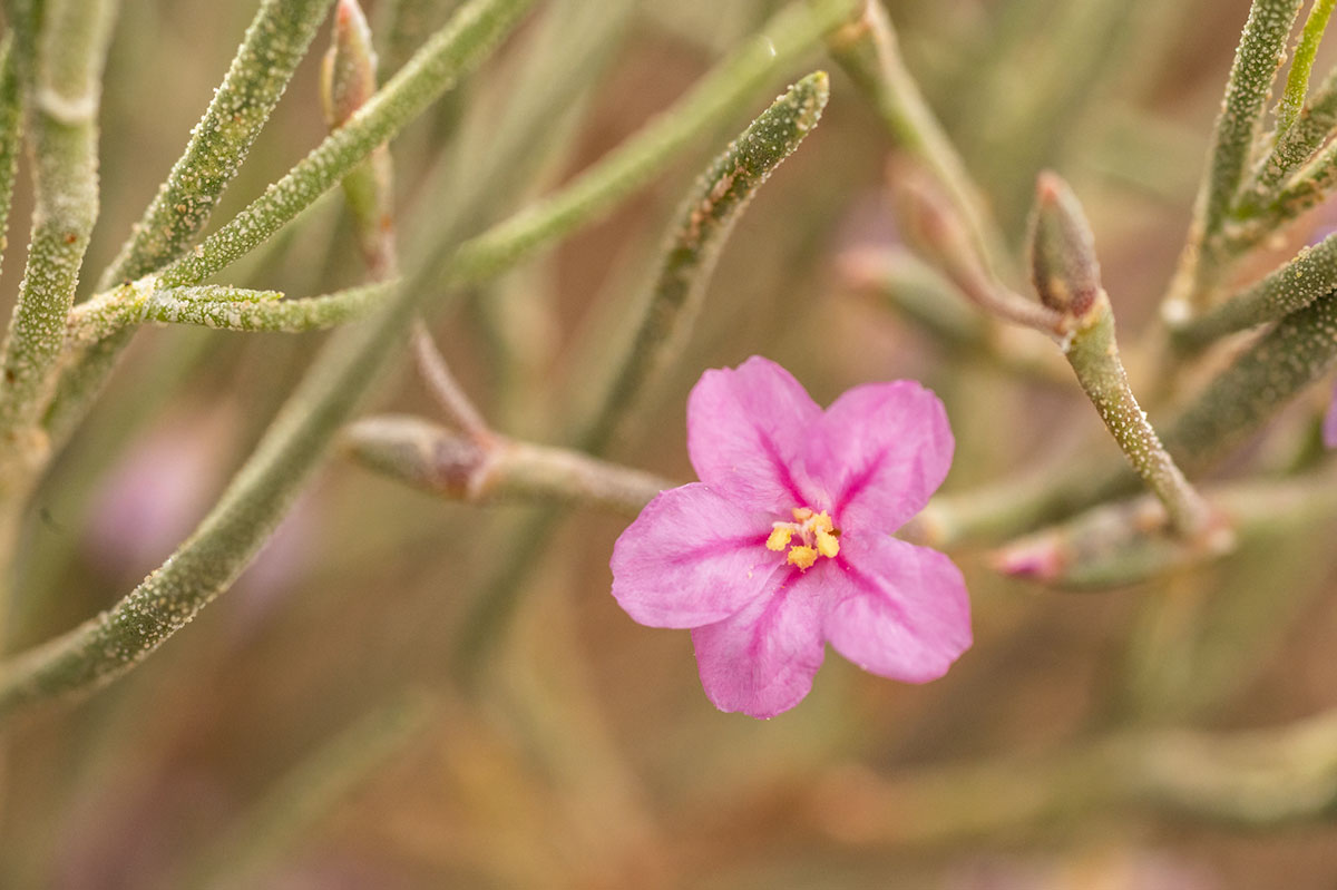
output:
POLYGON ((1165 504, 1170 525, 1195 539, 1211 521, 1211 510, 1138 405, 1119 358, 1114 311, 1100 286, 1091 229, 1076 195, 1055 174, 1042 174, 1031 238, 1035 290, 1050 309, 1072 319, 1064 355, 1100 420, 1147 488, 1165 504))

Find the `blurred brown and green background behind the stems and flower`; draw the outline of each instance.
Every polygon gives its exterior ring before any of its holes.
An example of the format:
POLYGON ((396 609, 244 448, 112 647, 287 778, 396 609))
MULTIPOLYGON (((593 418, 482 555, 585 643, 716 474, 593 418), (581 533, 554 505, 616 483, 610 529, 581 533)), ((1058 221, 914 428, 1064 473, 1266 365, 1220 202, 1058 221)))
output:
MULTIPOLYGON (((455 4, 400 5, 432 27, 455 4)), ((535 144, 513 196, 479 227, 595 162, 779 5, 639 4, 562 126, 535 144)), ((255 4, 122 7, 91 270, 112 258, 180 152, 255 4)), ((554 17, 590 7, 540 4, 396 143, 404 239, 431 226, 422 183, 445 183, 433 194, 448 195, 451 178, 485 156, 493 122, 523 98, 525 60, 551 51, 554 17)), ((1173 271, 1247 7, 888 3, 909 67, 1017 251, 1035 174, 1052 167, 1074 184, 1126 339, 1147 325, 1173 271)), ((384 3, 368 12, 373 28, 392 17, 384 3)), ((402 31, 398 43, 377 33, 382 78, 427 33, 402 31)), ((326 43, 322 32, 215 223, 324 136, 326 43)), ((1316 71, 1334 60, 1325 49, 1316 71)), ((1076 386, 1017 380, 941 349, 845 285, 840 257, 898 241, 892 144, 820 52, 770 95, 816 67, 833 75, 820 128, 742 218, 690 347, 616 457, 689 480, 687 390, 705 367, 754 353, 824 404, 870 380, 933 388, 957 438, 945 490, 1043 466, 1090 440, 1099 420, 1076 386)), ((652 274, 674 207, 745 124, 699 140, 607 220, 433 322, 497 429, 551 441, 572 381, 606 359, 606 331, 652 274)), ((16 247, 29 211, 20 176, 16 247)), ((16 253, 0 281, 5 305, 16 253)), ((334 194, 225 279, 305 295, 362 275, 334 194)), ((86 274, 90 286, 95 277, 86 274)), ((156 567, 320 339, 142 331, 39 493, 9 645, 75 625, 156 567)), ((376 408, 439 414, 406 369, 376 408)), ((797 710, 755 722, 705 698, 687 633, 639 627, 608 596, 626 520, 572 510, 554 545, 517 556, 524 512, 451 504, 330 461, 195 623, 126 679, 8 732, 0 886, 1305 890, 1337 881, 1337 831, 1325 825, 1242 831, 1106 806, 1084 794, 1095 779, 1082 771, 1046 775, 1036 796, 1060 803, 1031 807, 1025 783, 1000 784, 987 766, 1060 762, 1112 726, 1263 727, 1337 706, 1333 529, 1094 595, 1004 580, 983 551, 953 552, 976 643, 945 679, 902 686, 832 657, 797 710), (461 683, 463 616, 516 560, 528 571, 516 580, 515 623, 461 683), (976 763, 983 771, 939 772, 976 763)))

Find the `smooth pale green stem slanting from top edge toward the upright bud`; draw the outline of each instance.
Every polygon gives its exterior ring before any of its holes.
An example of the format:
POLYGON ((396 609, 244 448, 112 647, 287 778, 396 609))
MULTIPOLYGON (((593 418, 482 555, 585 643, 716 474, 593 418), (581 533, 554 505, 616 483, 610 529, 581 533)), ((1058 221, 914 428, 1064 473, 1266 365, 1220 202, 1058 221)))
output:
POLYGON ((1011 254, 984 192, 905 67, 896 28, 880 0, 865 0, 858 20, 828 39, 832 55, 877 108, 896 142, 928 171, 965 220, 985 266, 1007 270, 1011 254))

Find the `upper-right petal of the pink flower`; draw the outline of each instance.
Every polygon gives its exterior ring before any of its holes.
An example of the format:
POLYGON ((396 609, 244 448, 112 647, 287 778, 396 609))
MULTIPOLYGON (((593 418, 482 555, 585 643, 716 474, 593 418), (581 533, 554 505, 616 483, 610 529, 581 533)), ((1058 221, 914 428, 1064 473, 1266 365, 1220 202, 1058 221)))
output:
POLYGON ((894 532, 952 466, 952 429, 915 381, 856 386, 813 430, 804 465, 830 492, 841 528, 894 532))

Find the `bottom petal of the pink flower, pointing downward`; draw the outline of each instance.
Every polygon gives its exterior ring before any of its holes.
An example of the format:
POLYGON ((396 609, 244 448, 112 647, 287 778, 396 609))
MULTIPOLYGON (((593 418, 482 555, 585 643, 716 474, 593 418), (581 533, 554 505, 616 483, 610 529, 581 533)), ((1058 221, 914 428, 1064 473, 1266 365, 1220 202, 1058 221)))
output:
POLYGON ((826 655, 821 585, 782 567, 738 615, 691 632, 706 696, 721 711, 773 718, 813 688, 826 655))

